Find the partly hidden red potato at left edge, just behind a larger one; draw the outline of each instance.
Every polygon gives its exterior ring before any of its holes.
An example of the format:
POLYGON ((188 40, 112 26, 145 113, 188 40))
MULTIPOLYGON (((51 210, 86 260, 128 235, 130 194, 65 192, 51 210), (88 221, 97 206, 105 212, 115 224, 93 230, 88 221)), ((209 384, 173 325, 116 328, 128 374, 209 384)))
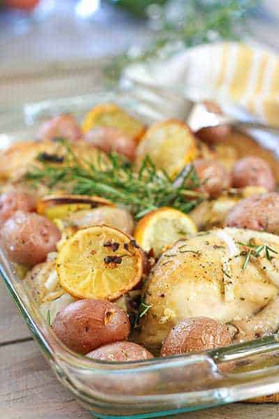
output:
POLYGON ((0 224, 7 221, 17 210, 36 211, 36 199, 20 191, 8 191, 0 196, 0 224))

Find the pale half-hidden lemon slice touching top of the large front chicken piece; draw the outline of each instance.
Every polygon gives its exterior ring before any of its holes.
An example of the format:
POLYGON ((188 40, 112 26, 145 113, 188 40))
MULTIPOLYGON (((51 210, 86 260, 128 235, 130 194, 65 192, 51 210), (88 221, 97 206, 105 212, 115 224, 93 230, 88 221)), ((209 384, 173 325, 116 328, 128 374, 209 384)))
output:
POLYGON ((135 229, 135 240, 142 249, 153 249, 155 256, 159 256, 164 247, 196 233, 197 227, 190 216, 174 208, 163 207, 149 212, 140 220, 135 229))

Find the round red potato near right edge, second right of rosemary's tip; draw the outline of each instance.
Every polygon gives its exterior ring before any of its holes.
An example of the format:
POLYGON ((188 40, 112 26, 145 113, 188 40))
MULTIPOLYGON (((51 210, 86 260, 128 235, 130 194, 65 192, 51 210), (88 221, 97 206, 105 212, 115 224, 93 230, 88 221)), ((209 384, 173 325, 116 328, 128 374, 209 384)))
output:
POLYGON ((267 191, 273 191, 276 187, 276 179, 269 163, 260 157, 249 156, 240 159, 234 165, 232 186, 234 188, 262 186, 267 191))

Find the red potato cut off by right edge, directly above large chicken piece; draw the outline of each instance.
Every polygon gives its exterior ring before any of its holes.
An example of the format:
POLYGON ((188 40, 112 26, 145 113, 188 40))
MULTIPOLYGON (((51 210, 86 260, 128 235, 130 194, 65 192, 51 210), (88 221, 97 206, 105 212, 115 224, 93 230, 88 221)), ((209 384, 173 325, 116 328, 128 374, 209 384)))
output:
POLYGON ((279 234, 279 193, 251 196, 237 203, 227 214, 225 225, 279 234))

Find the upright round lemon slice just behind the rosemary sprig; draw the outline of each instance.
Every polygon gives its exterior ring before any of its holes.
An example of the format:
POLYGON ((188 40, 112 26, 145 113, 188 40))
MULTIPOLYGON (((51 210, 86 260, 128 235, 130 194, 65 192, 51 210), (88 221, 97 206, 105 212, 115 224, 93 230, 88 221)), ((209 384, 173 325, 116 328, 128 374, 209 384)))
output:
POLYGON ((135 161, 140 168, 144 157, 149 155, 156 168, 174 176, 198 154, 197 141, 190 128, 181 121, 169 119, 146 131, 137 147, 135 161))

